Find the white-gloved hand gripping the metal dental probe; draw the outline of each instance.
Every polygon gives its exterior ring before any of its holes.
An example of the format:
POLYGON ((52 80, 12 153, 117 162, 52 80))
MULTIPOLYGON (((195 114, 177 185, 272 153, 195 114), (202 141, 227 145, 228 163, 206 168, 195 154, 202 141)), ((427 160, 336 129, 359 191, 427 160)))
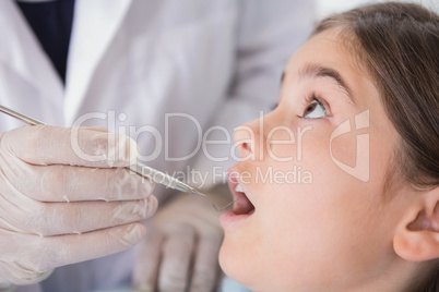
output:
POLYGON ((157 200, 150 181, 120 168, 137 154, 130 138, 97 130, 36 125, 0 134, 0 288, 140 242, 138 221, 157 200))

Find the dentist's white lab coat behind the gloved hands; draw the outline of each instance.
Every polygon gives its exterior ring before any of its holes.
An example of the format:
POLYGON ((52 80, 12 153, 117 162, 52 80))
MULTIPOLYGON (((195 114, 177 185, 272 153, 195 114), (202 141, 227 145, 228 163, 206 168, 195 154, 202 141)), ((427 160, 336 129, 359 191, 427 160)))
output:
MULTIPOLYGON (((76 0, 63 86, 14 2, 1 0, 0 105, 61 126, 85 113, 111 118, 115 111, 115 122, 82 125, 153 126, 163 148, 150 166, 173 172, 191 161, 191 168, 207 170, 212 162, 202 151, 189 161, 165 159, 165 150, 174 158, 190 154, 199 135, 194 122, 180 117, 168 120, 166 138, 165 114, 190 114, 202 133, 222 125, 232 135, 234 126, 270 109, 312 12, 305 0, 76 0), (119 121, 119 113, 127 119, 119 121)), ((0 132, 19 125, 0 114, 0 132)), ((156 149, 151 134, 138 143, 144 155, 156 149)), ((229 145, 213 148, 212 156, 229 154, 229 145)), ((129 281, 134 252, 59 268, 45 290, 90 291, 129 281)))

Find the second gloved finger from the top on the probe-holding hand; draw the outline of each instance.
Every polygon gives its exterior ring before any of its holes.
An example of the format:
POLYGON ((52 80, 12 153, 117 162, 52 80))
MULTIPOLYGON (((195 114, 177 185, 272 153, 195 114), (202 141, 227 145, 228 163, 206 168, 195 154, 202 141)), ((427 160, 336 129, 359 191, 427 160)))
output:
POLYGON ((124 168, 41 167, 22 162, 8 166, 3 173, 20 193, 39 202, 140 199, 154 190, 154 182, 124 168))

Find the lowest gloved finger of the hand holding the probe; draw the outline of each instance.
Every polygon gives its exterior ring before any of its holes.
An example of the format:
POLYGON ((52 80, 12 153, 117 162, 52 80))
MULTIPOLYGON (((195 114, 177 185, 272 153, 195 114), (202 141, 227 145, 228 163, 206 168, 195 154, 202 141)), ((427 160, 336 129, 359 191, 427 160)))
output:
POLYGON ((0 277, 15 284, 25 284, 46 277, 56 267, 127 250, 143 240, 146 228, 135 222, 83 234, 49 238, 5 230, 1 233, 7 235, 3 240, 10 244, 0 257, 0 277))

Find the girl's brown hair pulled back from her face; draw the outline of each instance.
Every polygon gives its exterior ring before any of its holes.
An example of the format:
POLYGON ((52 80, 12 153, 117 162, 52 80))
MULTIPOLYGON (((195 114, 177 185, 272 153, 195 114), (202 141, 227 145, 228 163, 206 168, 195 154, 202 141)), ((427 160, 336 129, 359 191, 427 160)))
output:
MULTIPOLYGON (((339 29, 372 76, 400 135, 384 191, 399 180, 415 188, 439 185, 439 16, 414 3, 384 2, 334 14, 312 35, 339 29)), ((407 291, 438 291, 439 266, 407 291)))

